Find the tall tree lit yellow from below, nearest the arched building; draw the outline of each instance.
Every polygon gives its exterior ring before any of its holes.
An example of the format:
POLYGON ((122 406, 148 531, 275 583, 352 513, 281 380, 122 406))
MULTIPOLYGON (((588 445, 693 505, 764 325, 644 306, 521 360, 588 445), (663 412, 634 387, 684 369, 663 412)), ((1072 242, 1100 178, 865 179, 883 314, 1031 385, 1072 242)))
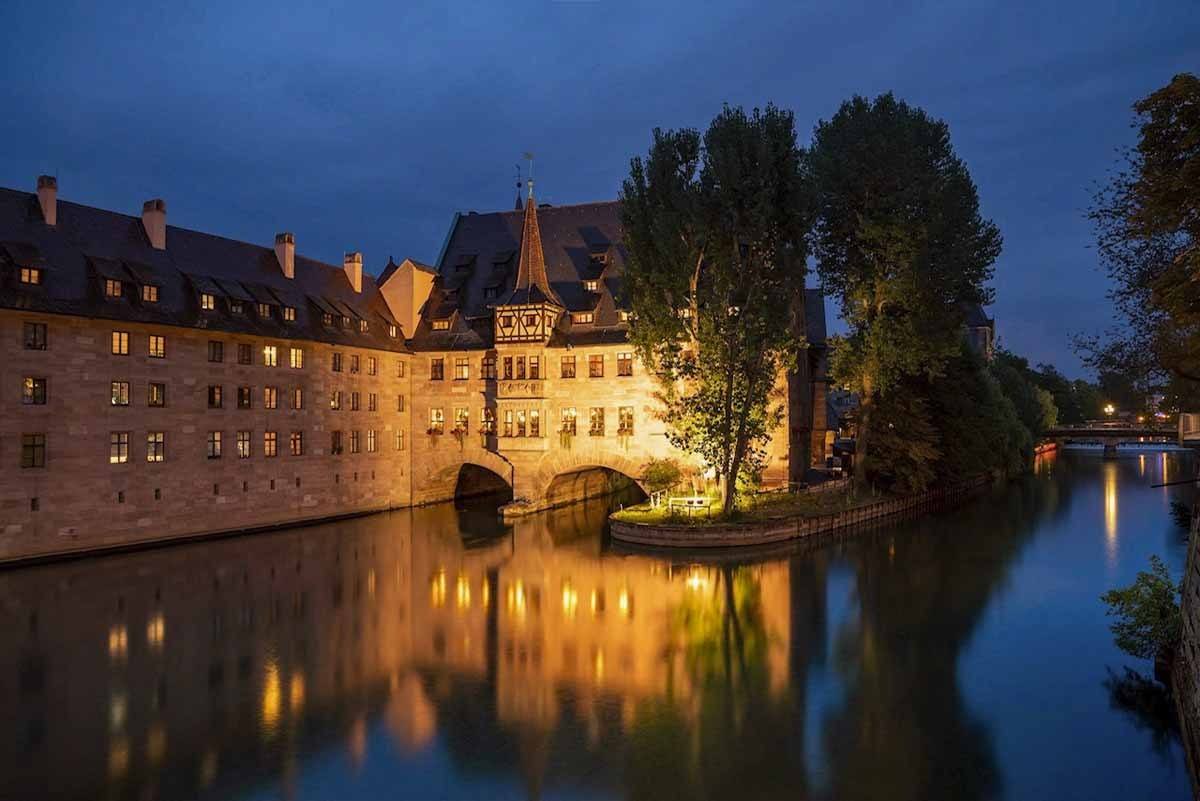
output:
POLYGON ((761 475, 794 359, 802 161, 790 112, 726 107, 703 137, 655 130, 620 193, 630 338, 661 381, 667 436, 716 472, 726 512, 761 475))

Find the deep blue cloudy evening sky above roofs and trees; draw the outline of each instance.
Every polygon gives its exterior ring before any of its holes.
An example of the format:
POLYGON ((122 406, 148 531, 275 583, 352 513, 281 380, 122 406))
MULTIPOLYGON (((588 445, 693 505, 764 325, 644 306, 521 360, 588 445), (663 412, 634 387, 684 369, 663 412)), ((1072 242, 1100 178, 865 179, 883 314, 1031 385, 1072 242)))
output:
POLYGON ((456 210, 617 194, 655 126, 774 101, 802 144, 853 94, 944 119, 1000 225, 1001 343, 1069 374, 1109 324, 1084 218, 1130 104, 1200 70, 1200 4, 22 2, 0 7, 0 185, 371 272, 456 210), (113 7, 102 7, 113 5, 113 7), (316 4, 314 4, 316 5, 316 4), (330 4, 341 5, 341 4, 330 4), (346 4, 349 5, 349 4, 346 4), (1044 7, 1043 7, 1044 6, 1044 7))

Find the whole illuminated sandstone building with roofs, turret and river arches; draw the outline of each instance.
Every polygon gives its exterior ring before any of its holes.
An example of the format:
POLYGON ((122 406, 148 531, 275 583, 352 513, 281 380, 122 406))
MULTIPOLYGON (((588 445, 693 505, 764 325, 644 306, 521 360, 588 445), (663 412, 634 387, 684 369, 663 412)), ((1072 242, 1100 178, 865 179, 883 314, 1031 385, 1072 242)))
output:
MULTIPOLYGON (((434 266, 342 265, 0 188, 0 561, 511 488, 521 513, 679 457, 618 305, 617 203, 456 216, 434 266)), ((824 442, 824 314, 766 478, 824 442)))

